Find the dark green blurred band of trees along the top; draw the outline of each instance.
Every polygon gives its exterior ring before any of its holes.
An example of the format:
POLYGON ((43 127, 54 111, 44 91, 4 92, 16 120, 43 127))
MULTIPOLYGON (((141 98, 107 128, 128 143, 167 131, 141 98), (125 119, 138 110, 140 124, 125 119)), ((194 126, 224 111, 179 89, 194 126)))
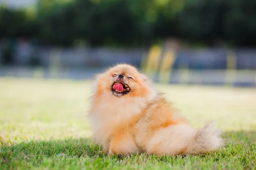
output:
POLYGON ((253 0, 39 0, 35 17, 0 8, 0 37, 62 46, 141 46, 166 37, 255 46, 255 8, 253 0))

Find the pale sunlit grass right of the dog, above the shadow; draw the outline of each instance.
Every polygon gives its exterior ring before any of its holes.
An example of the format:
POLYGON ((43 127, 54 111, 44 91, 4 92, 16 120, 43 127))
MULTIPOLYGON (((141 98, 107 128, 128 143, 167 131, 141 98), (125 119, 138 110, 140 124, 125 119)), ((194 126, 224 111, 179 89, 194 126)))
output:
POLYGON ((224 131, 256 130, 256 88, 157 85, 196 126, 216 121, 224 131))

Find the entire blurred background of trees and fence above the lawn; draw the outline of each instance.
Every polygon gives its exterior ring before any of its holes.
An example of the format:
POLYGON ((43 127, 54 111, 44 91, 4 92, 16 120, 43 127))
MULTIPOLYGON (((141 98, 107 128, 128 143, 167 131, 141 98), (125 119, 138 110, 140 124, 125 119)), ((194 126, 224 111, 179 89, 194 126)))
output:
POLYGON ((0 0, 0 77, 256 86, 256 1, 0 0))

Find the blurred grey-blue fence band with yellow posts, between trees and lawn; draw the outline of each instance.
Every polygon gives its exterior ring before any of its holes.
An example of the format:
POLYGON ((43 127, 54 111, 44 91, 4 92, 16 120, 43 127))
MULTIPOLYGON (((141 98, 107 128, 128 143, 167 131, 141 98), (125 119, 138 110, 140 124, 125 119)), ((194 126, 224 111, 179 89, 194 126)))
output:
MULTIPOLYGON (((3 54, 0 54, 0 59, 3 54)), ((254 49, 32 48, 20 45, 0 76, 88 79, 117 62, 142 68, 155 82, 256 86, 254 49), (27 67, 37 61, 37 67, 27 67)))

